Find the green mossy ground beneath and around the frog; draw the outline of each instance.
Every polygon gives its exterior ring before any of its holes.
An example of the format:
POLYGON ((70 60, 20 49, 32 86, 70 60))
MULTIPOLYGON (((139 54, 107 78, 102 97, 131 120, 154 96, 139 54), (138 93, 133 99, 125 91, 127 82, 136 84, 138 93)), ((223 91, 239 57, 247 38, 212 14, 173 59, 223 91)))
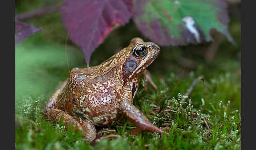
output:
MULTIPOLYGON (((56 147, 60 147, 60 149, 147 149, 145 145, 149 149, 240 148, 241 116, 238 105, 240 95, 233 95, 233 99, 230 99, 231 94, 228 94, 240 92, 239 88, 230 88, 240 84, 239 82, 229 82, 237 77, 220 74, 216 78, 217 81, 209 83, 205 81, 205 84, 207 83, 209 86, 208 88, 203 88, 199 82, 189 96, 192 104, 180 103, 183 98, 181 94, 173 94, 175 97, 170 96, 173 84, 179 81, 179 78, 173 73, 165 75, 160 81, 156 78, 157 75, 153 74, 153 79, 159 90, 155 91, 149 87, 149 91, 145 92, 141 85, 140 91, 135 96, 134 104, 156 126, 164 127, 167 125, 171 127, 169 137, 147 131, 137 136, 130 135, 135 126, 127 119, 123 119, 110 127, 117 131, 116 134, 122 135, 121 138, 103 140, 92 148, 83 142, 79 133, 71 129, 66 131, 62 125, 46 122, 42 118, 42 113, 38 111, 42 110, 42 105, 40 106, 42 101, 32 100, 33 103, 29 108, 26 103, 23 105, 25 108, 23 110, 26 110, 27 114, 31 113, 31 117, 23 115, 22 120, 28 118, 27 120, 31 120, 33 123, 19 121, 21 118, 17 117, 19 115, 16 113, 16 120, 20 126, 16 128, 17 149, 19 149, 18 147, 38 149, 55 149, 56 147), (211 86, 215 87, 215 90, 211 86), (204 98, 203 93, 206 93, 206 98, 204 98), (201 99, 204 99, 203 103, 201 99), (196 106, 193 105, 194 103, 196 106), (165 111, 167 105, 169 109, 171 108, 170 112, 165 111), (153 111, 155 114, 151 114, 149 111, 153 111), (208 123, 209 129, 204 120, 208 123)), ((182 79, 175 91, 185 92, 190 86, 188 82, 191 83, 192 79, 194 79, 192 75, 182 79)))

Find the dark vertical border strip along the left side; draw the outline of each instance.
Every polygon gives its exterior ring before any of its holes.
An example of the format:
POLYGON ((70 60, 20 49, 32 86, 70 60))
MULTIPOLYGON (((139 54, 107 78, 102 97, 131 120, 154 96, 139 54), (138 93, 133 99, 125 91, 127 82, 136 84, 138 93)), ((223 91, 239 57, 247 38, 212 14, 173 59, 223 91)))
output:
POLYGON ((2 149, 15 149, 15 1, 3 1, 1 14, 2 149), (7 148, 4 148, 7 147, 7 148))

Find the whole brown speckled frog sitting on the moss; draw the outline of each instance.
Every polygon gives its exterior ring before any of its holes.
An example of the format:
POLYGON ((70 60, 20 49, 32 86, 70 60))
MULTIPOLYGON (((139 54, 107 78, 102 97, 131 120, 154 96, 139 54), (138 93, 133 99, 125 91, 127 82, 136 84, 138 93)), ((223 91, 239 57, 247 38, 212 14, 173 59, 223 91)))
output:
POLYGON ((70 77, 46 103, 44 113, 47 119, 62 120, 67 126, 75 126, 83 131, 86 141, 95 140, 95 126, 110 126, 123 115, 136 126, 131 134, 137 135, 145 130, 163 134, 163 130, 133 105, 140 74, 159 53, 160 47, 154 42, 144 42, 136 37, 129 46, 98 66, 73 68, 70 77))

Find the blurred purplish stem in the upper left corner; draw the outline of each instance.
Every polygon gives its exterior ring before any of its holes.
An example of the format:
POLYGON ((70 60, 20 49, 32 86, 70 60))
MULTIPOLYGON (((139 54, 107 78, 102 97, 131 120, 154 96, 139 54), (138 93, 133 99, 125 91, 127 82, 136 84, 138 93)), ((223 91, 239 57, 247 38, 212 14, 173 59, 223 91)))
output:
POLYGON ((32 10, 32 11, 29 11, 26 13, 16 15, 15 19, 16 20, 25 20, 25 19, 33 18, 35 16, 41 16, 44 14, 54 12, 54 11, 58 10, 60 7, 61 7, 61 5, 55 5, 55 6, 44 7, 44 8, 32 10))

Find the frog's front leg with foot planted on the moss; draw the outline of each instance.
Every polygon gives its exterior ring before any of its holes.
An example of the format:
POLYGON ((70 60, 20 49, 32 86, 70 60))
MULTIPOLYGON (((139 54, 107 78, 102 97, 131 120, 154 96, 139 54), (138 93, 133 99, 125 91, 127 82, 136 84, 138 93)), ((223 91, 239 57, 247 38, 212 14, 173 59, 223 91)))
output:
POLYGON ((122 100, 120 105, 124 115, 137 127, 132 134, 139 134, 143 130, 164 133, 163 130, 154 126, 149 119, 147 119, 147 117, 131 103, 131 101, 122 100))

